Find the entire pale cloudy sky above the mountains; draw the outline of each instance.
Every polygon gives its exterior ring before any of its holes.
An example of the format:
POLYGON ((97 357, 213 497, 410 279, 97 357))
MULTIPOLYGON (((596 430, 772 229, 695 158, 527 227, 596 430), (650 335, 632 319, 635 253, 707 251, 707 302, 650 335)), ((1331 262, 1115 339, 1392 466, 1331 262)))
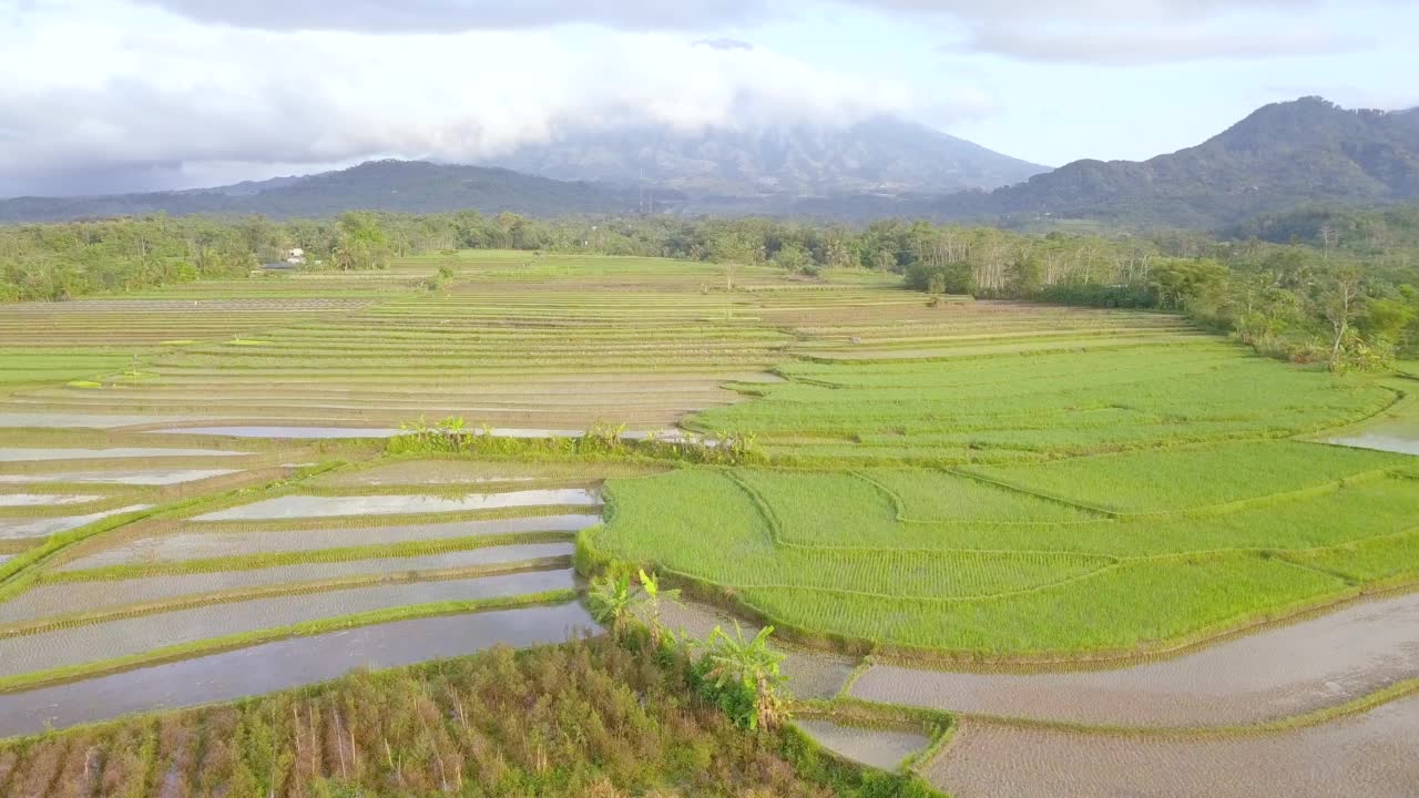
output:
POLYGON ((878 114, 1144 159, 1267 102, 1416 106, 1415 31, 1412 0, 0 0, 0 196, 878 114))

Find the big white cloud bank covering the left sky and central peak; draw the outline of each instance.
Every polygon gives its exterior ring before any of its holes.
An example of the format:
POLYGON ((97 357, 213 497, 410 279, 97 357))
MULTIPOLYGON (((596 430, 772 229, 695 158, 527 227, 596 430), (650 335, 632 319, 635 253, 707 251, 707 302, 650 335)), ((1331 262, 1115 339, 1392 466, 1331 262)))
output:
POLYGON ((570 121, 846 124, 910 104, 893 82, 674 34, 275 33, 119 3, 35 10, 0 31, 0 176, 27 185, 125 166, 176 179, 183 163, 470 162, 570 121))

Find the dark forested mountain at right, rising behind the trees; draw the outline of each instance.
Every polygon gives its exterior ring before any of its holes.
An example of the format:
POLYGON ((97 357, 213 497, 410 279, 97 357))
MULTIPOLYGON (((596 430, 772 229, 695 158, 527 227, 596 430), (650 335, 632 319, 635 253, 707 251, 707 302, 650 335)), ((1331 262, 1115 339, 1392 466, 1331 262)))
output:
POLYGON ((1349 111, 1305 97, 1266 105, 1193 148, 1144 162, 1076 160, 990 195, 946 197, 935 213, 1210 229, 1305 203, 1413 199, 1419 109, 1349 111))

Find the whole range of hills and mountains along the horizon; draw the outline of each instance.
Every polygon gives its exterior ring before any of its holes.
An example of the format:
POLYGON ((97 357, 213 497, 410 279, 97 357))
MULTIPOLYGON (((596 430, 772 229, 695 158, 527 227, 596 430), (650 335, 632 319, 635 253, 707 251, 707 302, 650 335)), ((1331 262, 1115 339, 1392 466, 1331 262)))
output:
POLYGON ((1046 173, 1036 173, 1042 166, 890 118, 839 129, 680 135, 640 128, 566 135, 501 163, 380 160, 216 189, 21 197, 0 200, 0 222, 153 212, 289 217, 355 209, 473 209, 851 222, 895 216, 1005 226, 1084 219, 1220 230, 1301 207, 1419 200, 1419 109, 1348 111, 1308 97, 1263 106, 1171 155, 1142 162, 1076 160, 1046 173))

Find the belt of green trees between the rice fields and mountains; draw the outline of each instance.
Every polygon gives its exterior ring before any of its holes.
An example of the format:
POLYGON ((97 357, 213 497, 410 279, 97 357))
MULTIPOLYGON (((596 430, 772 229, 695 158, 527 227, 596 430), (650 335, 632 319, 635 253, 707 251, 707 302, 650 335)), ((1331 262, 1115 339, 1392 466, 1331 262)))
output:
POLYGON ((302 268, 368 270, 465 248, 661 256, 901 274, 908 288, 1186 311, 1260 351, 1335 368, 1419 346, 1419 206, 1313 207, 1223 237, 1196 231, 1026 234, 888 220, 866 227, 771 219, 511 213, 345 213, 326 220, 163 214, 0 227, 0 297, 60 301, 234 278, 301 247, 302 268))

